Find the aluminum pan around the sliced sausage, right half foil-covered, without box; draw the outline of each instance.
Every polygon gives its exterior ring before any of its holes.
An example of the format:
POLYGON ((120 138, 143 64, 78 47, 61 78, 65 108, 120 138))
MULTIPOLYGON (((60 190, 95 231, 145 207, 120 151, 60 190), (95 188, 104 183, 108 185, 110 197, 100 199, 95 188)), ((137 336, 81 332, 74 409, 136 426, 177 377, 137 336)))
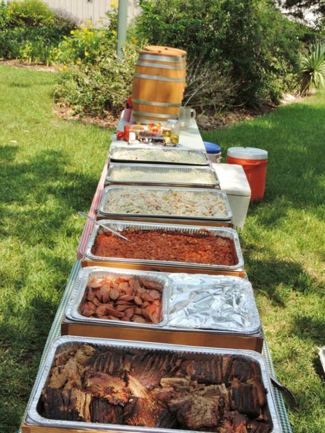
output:
POLYGON ((90 266, 82 268, 75 280, 65 311, 73 322, 93 325, 210 333, 234 333, 254 336, 261 333, 261 319, 256 308, 252 285, 239 277, 206 274, 167 274, 90 266), (154 323, 123 322, 86 317, 80 314, 80 303, 86 285, 93 277, 127 274, 147 277, 163 283, 163 320, 154 323))

